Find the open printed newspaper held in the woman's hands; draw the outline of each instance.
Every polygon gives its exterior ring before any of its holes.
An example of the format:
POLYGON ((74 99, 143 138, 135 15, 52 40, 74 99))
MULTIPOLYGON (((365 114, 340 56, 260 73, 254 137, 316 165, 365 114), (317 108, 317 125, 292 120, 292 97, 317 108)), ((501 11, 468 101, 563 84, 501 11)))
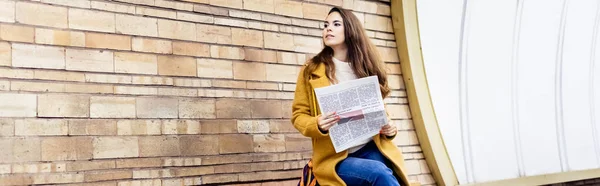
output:
POLYGON ((340 121, 329 129, 335 152, 360 145, 387 124, 377 76, 316 88, 321 113, 337 112, 340 121))

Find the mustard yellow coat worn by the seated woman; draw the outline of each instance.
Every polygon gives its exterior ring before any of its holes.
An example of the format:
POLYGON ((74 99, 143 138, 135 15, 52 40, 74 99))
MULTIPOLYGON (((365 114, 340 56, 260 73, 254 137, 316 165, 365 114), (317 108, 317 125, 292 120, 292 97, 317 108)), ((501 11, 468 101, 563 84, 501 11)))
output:
MULTIPOLYGON (((324 186, 345 186, 344 181, 337 175, 335 166, 348 157, 348 151, 335 153, 329 134, 321 133, 317 126, 317 118, 321 113, 318 109, 314 89, 330 85, 329 79, 325 75, 325 65, 321 63, 312 72, 313 76, 308 84, 304 81, 303 73, 304 68, 300 71, 296 84, 292 105, 292 123, 302 135, 312 138, 313 172, 317 182, 324 186)), ((396 145, 392 143, 392 139, 383 134, 373 137, 379 151, 393 163, 392 170, 402 179, 399 180, 400 184, 406 186, 409 185, 409 182, 404 168, 404 158, 396 145)))

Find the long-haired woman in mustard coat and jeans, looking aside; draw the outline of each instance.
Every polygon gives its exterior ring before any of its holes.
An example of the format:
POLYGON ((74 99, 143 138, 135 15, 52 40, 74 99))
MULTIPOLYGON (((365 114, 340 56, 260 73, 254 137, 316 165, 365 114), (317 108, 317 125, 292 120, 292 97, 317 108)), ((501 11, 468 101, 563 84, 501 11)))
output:
POLYGON ((335 113, 319 113, 314 89, 352 79, 379 79, 382 97, 390 93, 384 64, 356 16, 333 8, 325 20, 325 48, 299 73, 292 105, 292 123, 312 138, 313 172, 320 185, 408 185, 404 158, 392 143, 397 129, 389 123, 380 134, 335 153, 329 128, 339 121, 335 113))

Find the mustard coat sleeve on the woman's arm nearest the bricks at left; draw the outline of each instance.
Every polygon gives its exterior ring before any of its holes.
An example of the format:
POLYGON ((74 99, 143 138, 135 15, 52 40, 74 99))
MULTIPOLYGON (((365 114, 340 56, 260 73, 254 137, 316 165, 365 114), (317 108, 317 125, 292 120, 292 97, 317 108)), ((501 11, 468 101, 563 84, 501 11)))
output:
POLYGON ((296 91, 292 103, 292 124, 304 136, 311 138, 327 137, 328 133, 322 133, 317 125, 319 116, 311 116, 310 92, 307 82, 304 80, 304 68, 298 74, 296 91))

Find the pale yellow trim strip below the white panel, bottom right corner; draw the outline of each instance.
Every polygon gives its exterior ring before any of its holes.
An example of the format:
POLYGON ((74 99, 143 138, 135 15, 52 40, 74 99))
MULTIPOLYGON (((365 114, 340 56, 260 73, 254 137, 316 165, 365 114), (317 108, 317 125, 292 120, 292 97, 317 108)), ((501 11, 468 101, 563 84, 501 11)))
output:
POLYGON ((561 172, 554 174, 545 174, 539 176, 527 176, 515 179, 499 180, 485 183, 463 184, 460 186, 529 186, 529 185, 546 185, 554 183, 563 183, 577 180, 586 180, 598 178, 600 169, 590 169, 581 171, 561 172))

